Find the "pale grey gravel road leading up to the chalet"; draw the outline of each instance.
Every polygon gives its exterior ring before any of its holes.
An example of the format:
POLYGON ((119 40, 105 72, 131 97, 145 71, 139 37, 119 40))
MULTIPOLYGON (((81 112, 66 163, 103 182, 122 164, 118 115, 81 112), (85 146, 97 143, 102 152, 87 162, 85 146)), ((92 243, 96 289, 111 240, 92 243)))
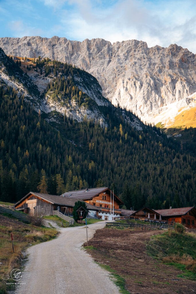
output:
MULTIPOLYGON (((88 239, 105 222, 88 225, 88 239)), ((119 294, 109 273, 100 268, 81 245, 86 226, 61 228, 58 238, 30 247, 16 294, 119 294)))

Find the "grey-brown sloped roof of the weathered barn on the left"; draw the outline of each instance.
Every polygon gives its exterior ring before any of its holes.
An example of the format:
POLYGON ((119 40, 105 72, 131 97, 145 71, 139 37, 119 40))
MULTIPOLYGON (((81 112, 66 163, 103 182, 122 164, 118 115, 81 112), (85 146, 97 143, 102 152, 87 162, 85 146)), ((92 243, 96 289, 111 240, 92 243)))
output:
MULTIPOLYGON (((35 195, 43 200, 46 200, 52 204, 57 205, 65 205, 65 206, 74 206, 75 202, 81 201, 81 199, 78 198, 68 198, 68 197, 62 197, 57 195, 50 195, 50 194, 43 194, 43 193, 37 193, 37 192, 29 192, 27 195, 25 195, 21 200, 19 200, 16 204, 14 204, 14 207, 17 206, 20 202, 22 202, 26 197, 29 195, 35 195)), ((86 202, 85 202, 86 203, 86 202)), ((86 207, 88 209, 98 210, 99 208, 96 206, 92 206, 88 203, 86 203, 86 207)))

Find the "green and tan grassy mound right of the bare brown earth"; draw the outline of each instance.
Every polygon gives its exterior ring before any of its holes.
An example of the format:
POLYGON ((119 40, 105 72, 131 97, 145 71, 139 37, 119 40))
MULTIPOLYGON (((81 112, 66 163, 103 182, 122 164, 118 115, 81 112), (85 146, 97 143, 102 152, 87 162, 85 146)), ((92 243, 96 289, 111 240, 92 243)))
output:
POLYGON ((153 258, 182 270, 180 277, 196 280, 196 233, 168 229, 152 236, 146 249, 153 258))

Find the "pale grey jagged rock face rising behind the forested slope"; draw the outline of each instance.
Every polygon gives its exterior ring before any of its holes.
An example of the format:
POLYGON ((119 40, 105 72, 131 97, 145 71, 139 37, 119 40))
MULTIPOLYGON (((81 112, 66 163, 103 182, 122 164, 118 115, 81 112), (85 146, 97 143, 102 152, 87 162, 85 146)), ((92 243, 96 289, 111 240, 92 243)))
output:
MULTIPOLYGON (((148 48, 143 41, 69 41, 54 36, 0 38, 6 54, 48 57, 95 76, 114 105, 153 121, 160 109, 196 92, 196 55, 176 44, 148 48)), ((187 100, 188 101, 188 100, 187 100)))

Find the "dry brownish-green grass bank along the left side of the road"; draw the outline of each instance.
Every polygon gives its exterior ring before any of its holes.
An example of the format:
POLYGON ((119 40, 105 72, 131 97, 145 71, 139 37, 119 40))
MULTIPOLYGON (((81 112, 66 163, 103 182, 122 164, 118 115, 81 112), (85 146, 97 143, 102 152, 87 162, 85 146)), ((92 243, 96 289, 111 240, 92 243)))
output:
POLYGON ((58 232, 55 229, 22 223, 3 215, 0 215, 0 223, 0 294, 6 294, 11 290, 6 282, 13 282, 12 279, 8 279, 8 275, 12 269, 21 268, 24 250, 30 245, 56 238, 58 232), (14 252, 11 233, 14 238, 14 252))

